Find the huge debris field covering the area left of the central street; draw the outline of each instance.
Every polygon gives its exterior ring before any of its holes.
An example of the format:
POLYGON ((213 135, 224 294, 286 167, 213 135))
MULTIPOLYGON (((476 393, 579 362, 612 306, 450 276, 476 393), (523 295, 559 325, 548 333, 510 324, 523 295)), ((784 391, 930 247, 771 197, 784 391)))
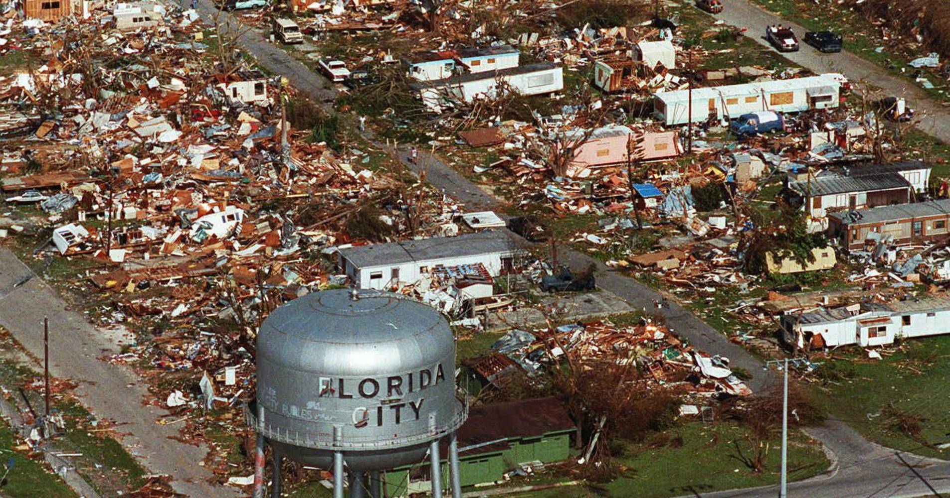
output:
MULTIPOLYGON (((345 284, 337 247, 434 234, 458 207, 371 165, 390 151, 295 129, 282 116, 304 100, 218 60, 193 10, 141 9, 161 16, 148 36, 114 28, 103 7, 58 25, 8 20, 0 51, 44 62, 0 78, 0 219, 15 218, 0 237, 88 268, 69 291, 102 297, 90 318, 132 338, 105 360, 148 379, 187 438, 209 424, 241 433, 239 416, 189 414, 251 396, 263 317, 345 284)), ((161 495, 149 486, 142 495, 161 495)))

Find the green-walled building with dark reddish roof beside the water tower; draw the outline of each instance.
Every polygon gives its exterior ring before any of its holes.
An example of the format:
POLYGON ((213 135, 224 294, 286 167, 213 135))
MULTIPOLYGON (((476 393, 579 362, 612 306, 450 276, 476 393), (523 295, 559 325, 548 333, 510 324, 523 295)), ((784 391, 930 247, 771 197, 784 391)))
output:
MULTIPOLYGON (((519 464, 566 460, 574 431, 574 422, 554 397, 473 407, 458 430, 462 486, 501 482, 504 472, 519 464)), ((447 444, 443 444, 440 454, 447 455, 447 444)), ((448 483, 447 461, 442 470, 442 482, 448 483)), ((426 462, 388 470, 384 477, 386 496, 428 492, 429 475, 426 462)))

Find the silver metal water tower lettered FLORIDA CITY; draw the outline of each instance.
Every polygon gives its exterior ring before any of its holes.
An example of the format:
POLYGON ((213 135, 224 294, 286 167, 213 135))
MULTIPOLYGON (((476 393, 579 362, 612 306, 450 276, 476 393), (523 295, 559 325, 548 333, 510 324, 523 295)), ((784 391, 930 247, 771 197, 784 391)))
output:
POLYGON ((274 455, 272 496, 283 458, 333 470, 333 498, 380 498, 380 471, 422 463, 442 496, 439 442, 448 438, 453 498, 461 498, 455 431, 455 341, 426 304, 371 290, 314 292, 274 310, 257 334, 255 498, 263 498, 264 444, 274 455))

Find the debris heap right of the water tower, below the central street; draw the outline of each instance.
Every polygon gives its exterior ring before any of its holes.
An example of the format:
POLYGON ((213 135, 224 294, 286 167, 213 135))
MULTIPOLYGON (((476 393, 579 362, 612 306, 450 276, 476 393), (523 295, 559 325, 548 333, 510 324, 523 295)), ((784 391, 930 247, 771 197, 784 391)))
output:
POLYGON ((637 388, 667 389, 687 397, 748 396, 751 391, 729 368, 729 359, 699 352, 666 326, 644 320, 618 326, 609 320, 566 324, 553 332, 511 330, 491 345, 494 352, 463 363, 481 378, 504 385, 509 376, 536 377, 565 355, 584 368, 599 361, 635 362, 648 372, 637 388))

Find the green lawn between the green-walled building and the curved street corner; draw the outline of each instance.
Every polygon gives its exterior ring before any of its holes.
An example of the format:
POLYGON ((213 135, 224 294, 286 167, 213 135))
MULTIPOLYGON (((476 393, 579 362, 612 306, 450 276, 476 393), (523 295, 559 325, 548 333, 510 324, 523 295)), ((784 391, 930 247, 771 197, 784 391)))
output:
MULTIPOLYGON (((627 468, 618 479, 599 485, 600 489, 571 487, 545 489, 514 496, 520 498, 633 497, 660 498, 717 489, 749 488, 777 484, 781 458, 778 438, 769 442, 766 471, 755 474, 743 463, 749 456, 744 430, 729 423, 705 425, 690 422, 664 433, 656 441, 677 441, 660 445, 630 445, 620 458, 627 468), (682 438, 682 445, 678 445, 682 438)), ((829 465, 820 445, 804 433, 789 433, 788 476, 800 480, 825 471, 829 465)))

